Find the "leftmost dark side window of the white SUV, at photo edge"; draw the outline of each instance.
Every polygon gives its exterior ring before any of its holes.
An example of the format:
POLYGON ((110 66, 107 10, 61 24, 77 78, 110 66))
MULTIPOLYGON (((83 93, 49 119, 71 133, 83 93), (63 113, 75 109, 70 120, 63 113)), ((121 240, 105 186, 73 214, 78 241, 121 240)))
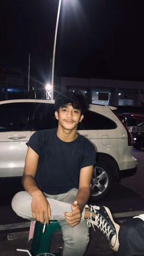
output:
POLYGON ((25 103, 0 105, 0 131, 27 130, 30 109, 25 103))

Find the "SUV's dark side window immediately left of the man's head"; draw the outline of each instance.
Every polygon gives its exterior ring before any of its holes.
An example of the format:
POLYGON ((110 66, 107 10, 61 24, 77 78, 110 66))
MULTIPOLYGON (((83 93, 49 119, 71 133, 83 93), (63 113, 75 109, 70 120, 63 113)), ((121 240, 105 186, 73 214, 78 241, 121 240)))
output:
POLYGON ((36 103, 32 130, 45 130, 57 127, 54 116, 54 104, 36 103))

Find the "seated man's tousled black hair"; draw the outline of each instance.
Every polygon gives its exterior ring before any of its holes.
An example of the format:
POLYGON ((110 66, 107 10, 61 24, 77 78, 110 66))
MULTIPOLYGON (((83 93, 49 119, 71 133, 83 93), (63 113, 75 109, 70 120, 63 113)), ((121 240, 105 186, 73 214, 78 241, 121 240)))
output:
POLYGON ((56 111, 59 111, 60 107, 67 104, 71 104, 75 109, 80 109, 81 114, 84 114, 84 112, 88 110, 87 100, 85 100, 84 95, 82 95, 80 92, 67 91, 64 93, 59 93, 54 104, 56 111))

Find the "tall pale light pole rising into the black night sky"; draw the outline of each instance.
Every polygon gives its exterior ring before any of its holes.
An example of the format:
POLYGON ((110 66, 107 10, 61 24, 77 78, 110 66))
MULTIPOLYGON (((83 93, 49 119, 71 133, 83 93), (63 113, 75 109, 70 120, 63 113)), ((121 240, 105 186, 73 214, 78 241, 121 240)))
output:
POLYGON ((57 42, 57 29, 59 25, 59 15, 60 15, 60 7, 61 7, 62 0, 59 0, 59 7, 57 11, 57 22, 56 22, 56 29, 54 35, 54 49, 52 55, 52 69, 51 69, 51 98, 54 98, 54 62, 55 62, 55 54, 56 54, 56 42, 57 42))

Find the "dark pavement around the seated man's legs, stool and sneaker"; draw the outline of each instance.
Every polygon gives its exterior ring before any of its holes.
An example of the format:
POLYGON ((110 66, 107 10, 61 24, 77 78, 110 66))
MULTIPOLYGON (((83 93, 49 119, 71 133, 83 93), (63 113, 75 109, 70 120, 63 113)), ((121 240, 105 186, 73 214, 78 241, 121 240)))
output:
MULTIPOLYGON (((115 213, 113 217, 117 222, 121 223, 132 216, 143 213, 144 198, 142 196, 128 189, 121 189, 118 184, 113 186, 113 191, 99 205, 107 205, 112 213, 115 213)), ((20 218, 12 210, 9 202, 11 202, 10 196, 13 197, 13 194, 15 191, 10 194, 8 190, 4 197, 0 198, 0 256, 28 255, 27 252, 16 251, 18 248, 31 251, 32 241, 28 241, 30 222, 20 218)), ((50 252, 56 256, 62 256, 62 247, 62 233, 57 232, 52 237, 50 252)), ((95 232, 91 227, 90 243, 84 256, 116 255, 117 253, 112 251, 103 233, 99 232, 98 229, 95 232)))

